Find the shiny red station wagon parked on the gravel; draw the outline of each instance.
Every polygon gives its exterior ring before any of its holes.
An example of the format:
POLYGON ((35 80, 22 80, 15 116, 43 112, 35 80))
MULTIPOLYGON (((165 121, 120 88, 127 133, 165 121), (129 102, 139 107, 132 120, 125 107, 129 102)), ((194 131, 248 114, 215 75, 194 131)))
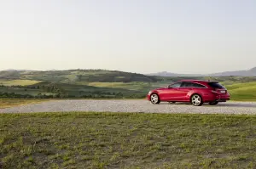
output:
POLYGON ((226 102, 230 100, 230 94, 218 82, 183 80, 168 87, 154 89, 148 93, 147 98, 152 104, 160 104, 161 101, 190 102, 201 106, 204 103, 216 105, 218 102, 226 102))

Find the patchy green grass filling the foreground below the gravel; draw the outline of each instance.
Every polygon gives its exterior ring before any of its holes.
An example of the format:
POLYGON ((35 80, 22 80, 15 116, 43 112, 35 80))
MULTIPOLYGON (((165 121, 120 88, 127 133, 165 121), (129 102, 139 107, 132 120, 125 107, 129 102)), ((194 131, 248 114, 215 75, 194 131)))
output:
POLYGON ((0 115, 0 168, 255 168, 255 115, 0 115))

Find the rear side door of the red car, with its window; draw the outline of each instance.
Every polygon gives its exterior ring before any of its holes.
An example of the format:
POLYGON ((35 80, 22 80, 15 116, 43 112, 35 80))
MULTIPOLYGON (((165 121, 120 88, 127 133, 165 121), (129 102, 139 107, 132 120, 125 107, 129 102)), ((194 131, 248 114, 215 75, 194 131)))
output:
POLYGON ((194 89, 193 82, 182 82, 181 87, 179 87, 179 92, 177 99, 179 101, 189 101, 188 93, 194 89))

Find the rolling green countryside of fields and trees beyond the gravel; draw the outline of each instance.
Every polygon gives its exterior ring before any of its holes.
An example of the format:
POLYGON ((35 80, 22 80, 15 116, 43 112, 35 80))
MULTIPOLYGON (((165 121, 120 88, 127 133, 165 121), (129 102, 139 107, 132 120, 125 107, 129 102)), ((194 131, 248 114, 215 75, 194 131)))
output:
POLYGON ((256 99, 255 76, 162 77, 114 70, 0 71, 0 98, 143 99, 150 89, 190 78, 221 82, 232 99, 256 99))

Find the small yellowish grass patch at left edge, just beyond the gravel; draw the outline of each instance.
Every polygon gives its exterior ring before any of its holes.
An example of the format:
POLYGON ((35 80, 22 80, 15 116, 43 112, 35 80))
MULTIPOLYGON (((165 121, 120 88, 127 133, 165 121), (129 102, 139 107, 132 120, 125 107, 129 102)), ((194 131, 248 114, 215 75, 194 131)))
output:
POLYGON ((46 99, 0 99, 0 109, 9 108, 17 105, 23 104, 37 104, 43 101, 47 101, 46 99))

